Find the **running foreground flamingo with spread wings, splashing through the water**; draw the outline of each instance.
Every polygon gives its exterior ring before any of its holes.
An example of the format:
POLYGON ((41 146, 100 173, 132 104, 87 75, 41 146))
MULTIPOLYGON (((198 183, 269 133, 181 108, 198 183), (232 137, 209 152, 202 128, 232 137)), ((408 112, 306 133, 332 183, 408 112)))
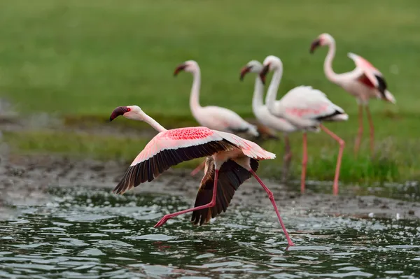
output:
MULTIPOLYGON (((283 224, 283 220, 281 220, 272 192, 267 186, 265 186, 264 183, 262 183, 262 180, 260 180, 254 171, 254 169, 256 169, 255 162, 258 164, 258 160, 274 159, 276 155, 260 148, 260 146, 256 143, 247 141, 235 134, 230 134, 224 131, 216 131, 207 127, 188 127, 167 130, 152 117, 144 113, 139 106, 119 106, 113 110, 109 120, 112 121, 119 115, 123 115, 124 117, 132 120, 144 121, 150 124, 151 127, 159 132, 159 134, 152 138, 144 150, 142 150, 134 159, 120 183, 118 183, 113 190, 116 194, 123 194, 127 190, 130 190, 146 181, 151 182, 154 178, 158 177, 160 173, 163 173, 169 169, 169 167, 175 166, 181 162, 201 157, 207 157, 206 162, 209 161, 210 157, 213 160, 214 185, 211 201, 207 204, 203 204, 207 201, 197 199, 196 204, 201 203, 203 205, 167 214, 162 217, 157 224, 155 224, 155 227, 160 227, 172 217, 176 217, 184 213, 214 208, 214 206, 216 206, 216 199, 218 196, 217 186, 219 172, 223 168, 223 165, 231 160, 251 173, 258 183, 260 183, 261 187, 265 189, 265 192, 267 192, 269 200, 271 201, 274 211, 279 219, 281 228, 286 235, 288 245, 294 245, 288 235, 286 227, 283 224), (254 167, 251 167, 253 165, 254 167)), ((208 168, 206 171, 209 173, 208 168)), ((198 215, 194 215, 193 213, 193 220, 197 220, 200 216, 206 216, 204 213, 200 215, 200 212, 201 211, 196 213, 198 215)))

